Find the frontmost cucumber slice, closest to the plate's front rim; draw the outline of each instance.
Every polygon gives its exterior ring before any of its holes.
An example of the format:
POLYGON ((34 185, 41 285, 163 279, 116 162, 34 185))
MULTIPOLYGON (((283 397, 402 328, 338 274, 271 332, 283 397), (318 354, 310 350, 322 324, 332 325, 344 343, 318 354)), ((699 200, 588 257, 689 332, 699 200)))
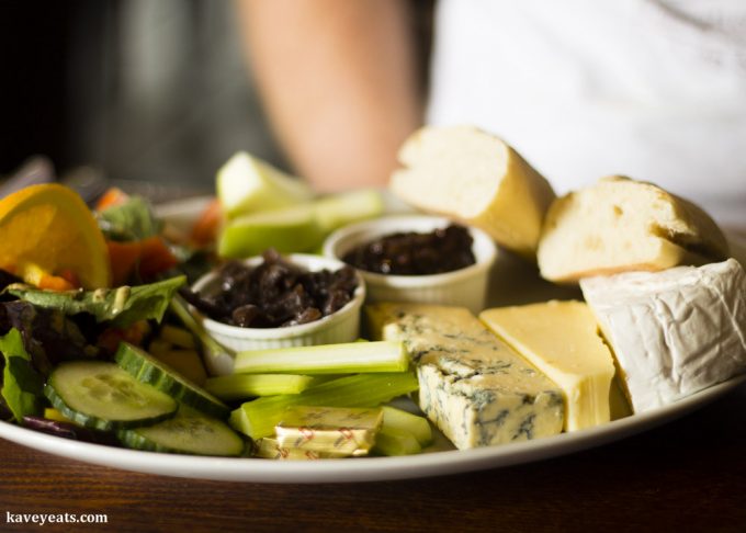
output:
POLYGON ((116 436, 127 447, 162 453, 237 456, 245 447, 244 440, 226 423, 184 405, 173 418, 121 430, 116 436))

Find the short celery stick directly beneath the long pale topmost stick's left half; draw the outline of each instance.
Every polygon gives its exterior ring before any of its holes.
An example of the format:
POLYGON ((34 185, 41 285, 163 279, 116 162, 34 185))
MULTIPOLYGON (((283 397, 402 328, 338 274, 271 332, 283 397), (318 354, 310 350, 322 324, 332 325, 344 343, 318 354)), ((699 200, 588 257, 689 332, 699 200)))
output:
POLYGON ((205 389, 224 400, 246 399, 255 396, 298 394, 314 383, 314 377, 296 374, 230 374, 210 377, 205 389))

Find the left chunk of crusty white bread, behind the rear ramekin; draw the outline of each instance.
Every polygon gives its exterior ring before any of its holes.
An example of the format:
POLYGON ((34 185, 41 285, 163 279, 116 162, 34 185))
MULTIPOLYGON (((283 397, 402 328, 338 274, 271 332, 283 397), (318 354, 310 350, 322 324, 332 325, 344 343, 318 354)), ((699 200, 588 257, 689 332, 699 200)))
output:
POLYGON ((550 183, 494 135, 474 127, 425 127, 399 150, 391 189, 410 205, 477 226, 535 260, 550 183))

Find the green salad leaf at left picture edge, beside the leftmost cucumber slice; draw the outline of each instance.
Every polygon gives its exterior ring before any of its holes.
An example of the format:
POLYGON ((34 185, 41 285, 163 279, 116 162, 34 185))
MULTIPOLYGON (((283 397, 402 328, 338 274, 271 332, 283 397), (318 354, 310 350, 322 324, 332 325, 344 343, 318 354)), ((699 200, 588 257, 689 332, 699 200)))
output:
POLYGON ((44 381, 34 370, 31 355, 23 345, 21 332, 12 328, 0 337, 0 352, 5 361, 2 372, 2 398, 16 421, 42 410, 44 381))

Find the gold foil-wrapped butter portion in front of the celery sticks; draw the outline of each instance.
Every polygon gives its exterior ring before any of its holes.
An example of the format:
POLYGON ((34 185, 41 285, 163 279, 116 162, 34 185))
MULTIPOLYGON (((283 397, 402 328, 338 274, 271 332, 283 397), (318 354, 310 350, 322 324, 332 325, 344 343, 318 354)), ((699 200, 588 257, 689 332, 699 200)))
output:
POLYGON ((373 447, 382 423, 378 407, 295 407, 274 430, 283 449, 360 456, 373 447))

